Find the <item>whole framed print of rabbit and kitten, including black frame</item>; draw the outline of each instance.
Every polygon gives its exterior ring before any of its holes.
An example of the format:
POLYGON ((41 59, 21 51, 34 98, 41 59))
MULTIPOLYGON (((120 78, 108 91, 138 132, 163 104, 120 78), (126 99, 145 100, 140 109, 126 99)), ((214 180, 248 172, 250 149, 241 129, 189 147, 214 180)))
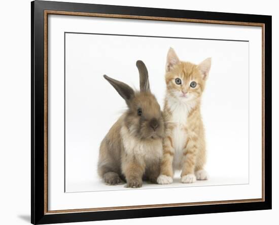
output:
POLYGON ((31 3, 33 224, 271 209, 271 16, 31 3))

